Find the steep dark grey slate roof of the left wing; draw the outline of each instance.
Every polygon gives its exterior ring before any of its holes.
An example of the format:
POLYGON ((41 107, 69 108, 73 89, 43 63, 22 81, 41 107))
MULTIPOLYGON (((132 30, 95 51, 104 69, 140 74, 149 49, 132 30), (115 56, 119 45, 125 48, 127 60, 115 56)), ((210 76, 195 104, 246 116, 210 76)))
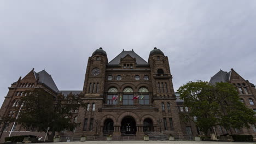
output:
POLYGON ((59 91, 59 89, 55 85, 55 82, 54 82, 53 78, 45 70, 42 70, 42 71, 40 71, 38 73, 36 73, 34 71, 34 75, 36 76, 37 80, 39 78, 38 82, 44 83, 46 86, 48 86, 54 92, 58 92, 59 91))

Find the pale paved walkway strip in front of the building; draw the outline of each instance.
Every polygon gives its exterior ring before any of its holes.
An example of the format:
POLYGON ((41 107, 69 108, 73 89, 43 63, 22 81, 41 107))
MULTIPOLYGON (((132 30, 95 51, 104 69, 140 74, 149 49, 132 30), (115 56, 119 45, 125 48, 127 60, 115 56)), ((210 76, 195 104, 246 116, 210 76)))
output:
POLYGON ((141 143, 152 143, 152 144, 161 144, 161 143, 170 143, 170 144, 252 144, 256 142, 212 142, 212 141, 85 141, 85 142, 55 142, 54 144, 104 144, 104 143, 122 143, 122 144, 141 144, 141 143))

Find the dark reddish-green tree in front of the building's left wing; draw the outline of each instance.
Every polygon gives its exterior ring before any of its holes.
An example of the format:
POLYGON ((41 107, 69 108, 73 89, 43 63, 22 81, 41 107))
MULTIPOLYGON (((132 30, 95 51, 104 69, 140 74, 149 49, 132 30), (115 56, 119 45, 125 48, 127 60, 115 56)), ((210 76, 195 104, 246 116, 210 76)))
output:
POLYGON ((23 105, 18 122, 27 129, 36 129, 47 133, 48 140, 53 140, 55 131, 73 130, 79 125, 72 121, 72 112, 84 106, 79 95, 69 94, 54 96, 42 88, 36 88, 21 98, 23 105))

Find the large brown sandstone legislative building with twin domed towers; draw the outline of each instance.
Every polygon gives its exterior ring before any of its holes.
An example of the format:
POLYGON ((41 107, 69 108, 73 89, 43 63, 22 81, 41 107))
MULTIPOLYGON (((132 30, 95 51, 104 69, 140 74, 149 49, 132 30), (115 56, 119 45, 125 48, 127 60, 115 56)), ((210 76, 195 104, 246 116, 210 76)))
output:
MULTIPOLYGON (((214 82, 235 83, 244 103, 256 110, 255 86, 244 80, 233 69, 229 73, 220 70, 212 77, 214 82)), ((164 135, 198 135, 200 129, 191 122, 183 122, 181 113, 189 113, 179 94, 173 90, 172 74, 168 57, 160 49, 149 53, 148 62, 132 51, 122 51, 111 61, 102 48, 97 49, 88 59, 83 91, 60 91, 51 75, 45 70, 32 69, 25 77, 12 83, 0 110, 1 117, 18 115, 19 99, 25 91, 42 87, 53 95, 83 94, 86 109, 73 112, 73 122, 80 123, 73 131, 62 131, 61 136, 143 136, 145 133, 164 135)), ((1 125, 2 129, 2 125, 1 125)), ((20 125, 9 124, 3 130, 3 137, 14 135, 37 135, 34 130, 25 130, 20 125)), ((218 135, 253 134, 255 125, 249 129, 216 127, 218 135)), ((3 141, 2 141, 3 142, 3 141)))

